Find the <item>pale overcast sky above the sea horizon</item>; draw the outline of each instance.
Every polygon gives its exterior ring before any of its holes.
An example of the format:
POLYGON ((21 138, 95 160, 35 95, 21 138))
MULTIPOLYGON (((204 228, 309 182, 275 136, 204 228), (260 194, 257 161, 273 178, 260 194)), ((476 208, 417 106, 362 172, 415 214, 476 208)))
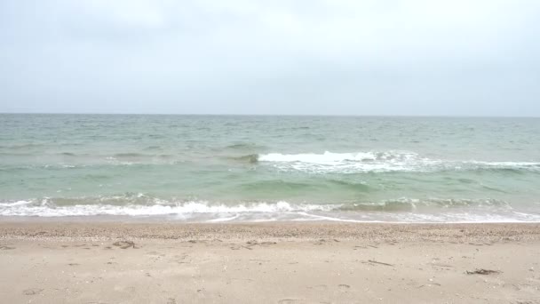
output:
POLYGON ((0 112, 540 116, 540 1, 0 0, 0 112))

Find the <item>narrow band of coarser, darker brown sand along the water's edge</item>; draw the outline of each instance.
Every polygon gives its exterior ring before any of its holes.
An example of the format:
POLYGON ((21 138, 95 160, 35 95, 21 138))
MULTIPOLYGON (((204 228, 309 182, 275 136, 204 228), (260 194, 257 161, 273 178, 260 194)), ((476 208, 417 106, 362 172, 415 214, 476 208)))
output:
POLYGON ((155 221, 0 220, 0 239, 246 239, 369 241, 539 241, 540 223, 346 223, 277 221, 185 223, 155 221))

